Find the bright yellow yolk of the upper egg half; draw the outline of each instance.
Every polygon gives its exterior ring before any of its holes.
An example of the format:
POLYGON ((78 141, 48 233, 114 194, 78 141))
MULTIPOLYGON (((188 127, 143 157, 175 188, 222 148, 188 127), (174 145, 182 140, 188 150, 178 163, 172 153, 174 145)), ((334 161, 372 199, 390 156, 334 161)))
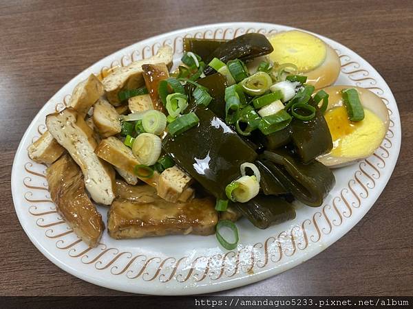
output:
POLYGON ((293 63, 300 72, 315 69, 326 58, 326 45, 319 38, 297 30, 282 32, 269 38, 274 52, 268 55, 270 60, 293 63))

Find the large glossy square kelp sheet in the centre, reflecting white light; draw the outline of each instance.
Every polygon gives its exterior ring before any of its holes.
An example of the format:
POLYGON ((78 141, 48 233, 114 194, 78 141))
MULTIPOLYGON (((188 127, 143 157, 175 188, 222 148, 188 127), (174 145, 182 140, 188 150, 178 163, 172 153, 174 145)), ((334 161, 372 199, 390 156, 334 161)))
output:
POLYGON ((165 137, 162 148, 213 196, 226 199, 225 187, 239 178, 240 165, 257 154, 212 111, 196 106, 198 126, 165 137))

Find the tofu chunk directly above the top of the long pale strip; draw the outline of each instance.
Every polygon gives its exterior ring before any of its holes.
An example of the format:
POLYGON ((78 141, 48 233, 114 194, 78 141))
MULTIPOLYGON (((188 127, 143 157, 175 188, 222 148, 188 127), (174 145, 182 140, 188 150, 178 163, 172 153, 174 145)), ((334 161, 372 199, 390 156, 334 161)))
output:
POLYGON ((105 94, 103 84, 94 74, 77 84, 70 96, 67 106, 72 107, 82 117, 85 117, 92 105, 105 94))

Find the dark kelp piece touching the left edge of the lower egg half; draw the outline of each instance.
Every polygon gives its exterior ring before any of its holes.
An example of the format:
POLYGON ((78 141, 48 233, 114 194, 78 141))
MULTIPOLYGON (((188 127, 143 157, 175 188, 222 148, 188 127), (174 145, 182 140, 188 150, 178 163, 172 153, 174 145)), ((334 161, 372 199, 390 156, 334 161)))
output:
POLYGON ((298 155, 307 163, 332 149, 332 138, 323 113, 317 109, 315 117, 307 122, 293 119, 291 138, 298 155))

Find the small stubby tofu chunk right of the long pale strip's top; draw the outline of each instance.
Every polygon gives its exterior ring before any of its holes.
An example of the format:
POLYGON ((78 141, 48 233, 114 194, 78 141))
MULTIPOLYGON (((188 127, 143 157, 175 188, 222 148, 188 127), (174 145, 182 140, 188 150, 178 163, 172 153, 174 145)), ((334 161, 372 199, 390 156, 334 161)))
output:
POLYGON ((93 108, 93 123, 102 137, 120 133, 120 116, 114 106, 105 99, 99 99, 93 108))

